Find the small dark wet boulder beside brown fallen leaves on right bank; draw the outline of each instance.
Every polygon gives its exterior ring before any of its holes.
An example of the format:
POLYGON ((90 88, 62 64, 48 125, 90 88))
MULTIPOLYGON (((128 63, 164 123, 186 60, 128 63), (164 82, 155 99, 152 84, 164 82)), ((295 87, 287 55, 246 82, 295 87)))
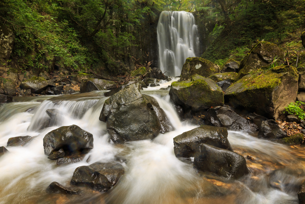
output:
POLYGON ((257 135, 258 138, 264 139, 282 139, 286 136, 274 120, 263 121, 257 135))

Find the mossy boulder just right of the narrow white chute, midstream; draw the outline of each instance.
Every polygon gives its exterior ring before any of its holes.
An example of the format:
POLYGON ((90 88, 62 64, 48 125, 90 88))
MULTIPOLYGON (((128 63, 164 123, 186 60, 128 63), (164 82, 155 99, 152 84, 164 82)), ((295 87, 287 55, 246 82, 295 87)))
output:
POLYGON ((194 112, 224 104, 221 88, 213 80, 198 74, 192 80, 171 83, 169 95, 175 104, 194 112))

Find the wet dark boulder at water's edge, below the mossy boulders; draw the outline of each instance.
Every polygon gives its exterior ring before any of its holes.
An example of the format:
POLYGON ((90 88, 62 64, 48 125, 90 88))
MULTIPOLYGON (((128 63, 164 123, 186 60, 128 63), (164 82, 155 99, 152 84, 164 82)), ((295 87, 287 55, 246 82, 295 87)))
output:
POLYGON ((208 124, 217 127, 224 127, 228 130, 243 130, 243 131, 255 131, 257 130, 256 125, 250 123, 245 118, 239 116, 237 113, 229 108, 222 106, 214 106, 210 108, 204 120, 208 124))

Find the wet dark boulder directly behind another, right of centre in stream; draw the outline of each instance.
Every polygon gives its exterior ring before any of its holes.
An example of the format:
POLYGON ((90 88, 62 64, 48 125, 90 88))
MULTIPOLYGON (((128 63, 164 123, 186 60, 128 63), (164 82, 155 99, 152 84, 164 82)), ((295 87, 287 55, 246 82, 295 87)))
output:
POLYGON ((176 157, 194 157, 201 143, 232 150, 228 141, 227 128, 201 125, 199 128, 184 132, 174 138, 176 157))

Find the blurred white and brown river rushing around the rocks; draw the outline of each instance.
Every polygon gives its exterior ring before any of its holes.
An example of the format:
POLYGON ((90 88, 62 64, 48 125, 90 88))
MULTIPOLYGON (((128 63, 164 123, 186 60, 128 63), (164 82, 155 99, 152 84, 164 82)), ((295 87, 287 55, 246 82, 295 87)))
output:
MULTIPOLYGON (((178 80, 176 78, 175 80, 178 80)), ((305 151, 300 145, 285 146, 258 139, 255 134, 228 131, 233 150, 246 158, 250 174, 239 180, 227 180, 197 172, 192 161, 175 157, 173 138, 196 128, 180 121, 168 95, 159 90, 172 81, 161 81, 142 94, 151 95, 166 112, 175 130, 155 139, 111 145, 106 123, 99 121, 105 91, 83 94, 15 97, 0 106, 0 146, 9 138, 35 136, 23 147, 7 147, 0 158, 0 204, 6 203, 111 203, 111 204, 292 204, 305 180, 305 151), (59 109, 60 115, 49 120, 47 109, 59 109), (44 154, 44 136, 61 126, 78 125, 93 134, 94 148, 81 162, 56 165, 44 154), (51 127, 50 127, 51 126, 51 127), (127 158, 125 174, 106 193, 81 188, 81 195, 48 194, 53 182, 69 186, 74 170, 94 162, 112 161, 115 156, 127 158)))

